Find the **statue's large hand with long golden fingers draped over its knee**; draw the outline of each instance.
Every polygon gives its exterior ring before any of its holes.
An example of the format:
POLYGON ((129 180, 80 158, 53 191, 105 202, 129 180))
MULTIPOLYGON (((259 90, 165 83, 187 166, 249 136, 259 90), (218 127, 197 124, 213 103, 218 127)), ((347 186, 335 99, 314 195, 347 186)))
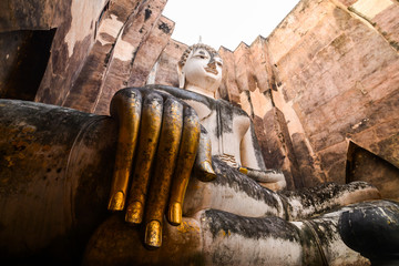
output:
POLYGON ((109 209, 126 209, 132 224, 144 221, 145 245, 160 247, 166 206, 171 224, 182 221, 193 165, 202 181, 216 177, 209 139, 190 105, 154 90, 119 91, 111 116, 119 122, 119 139, 109 209))

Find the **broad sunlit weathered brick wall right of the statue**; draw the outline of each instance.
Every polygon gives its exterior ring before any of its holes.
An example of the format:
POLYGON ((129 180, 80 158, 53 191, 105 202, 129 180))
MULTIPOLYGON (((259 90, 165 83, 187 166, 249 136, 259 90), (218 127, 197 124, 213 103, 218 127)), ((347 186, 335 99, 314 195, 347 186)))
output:
POLYGON ((349 141, 399 167, 399 3, 342 3, 301 1, 268 38, 307 185, 345 182, 349 141))

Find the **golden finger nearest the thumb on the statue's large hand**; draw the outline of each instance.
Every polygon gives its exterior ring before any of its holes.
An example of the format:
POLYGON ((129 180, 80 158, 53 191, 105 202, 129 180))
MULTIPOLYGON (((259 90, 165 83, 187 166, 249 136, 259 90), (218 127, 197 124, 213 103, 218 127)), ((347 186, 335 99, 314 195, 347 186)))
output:
POLYGON ((194 165, 200 141, 200 120, 195 111, 184 108, 183 133, 176 170, 173 175, 167 219, 173 225, 182 223, 182 205, 194 165))

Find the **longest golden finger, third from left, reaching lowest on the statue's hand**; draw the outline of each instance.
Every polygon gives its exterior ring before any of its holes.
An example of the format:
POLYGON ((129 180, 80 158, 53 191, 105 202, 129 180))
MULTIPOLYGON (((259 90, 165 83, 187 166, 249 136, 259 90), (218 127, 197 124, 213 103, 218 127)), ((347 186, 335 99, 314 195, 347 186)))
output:
POLYGON ((176 100, 167 99, 164 103, 160 144, 145 214, 144 243, 149 247, 160 247, 162 244, 162 221, 170 195, 182 126, 183 105, 176 100))

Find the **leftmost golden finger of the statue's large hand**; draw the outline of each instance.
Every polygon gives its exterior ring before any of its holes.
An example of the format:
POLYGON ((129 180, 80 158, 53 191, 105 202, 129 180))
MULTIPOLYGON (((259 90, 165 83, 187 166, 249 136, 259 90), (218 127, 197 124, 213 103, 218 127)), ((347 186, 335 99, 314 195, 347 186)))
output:
POLYGON ((129 176, 137 141, 142 96, 136 90, 121 90, 111 102, 111 115, 119 121, 119 136, 109 209, 124 208, 129 176))

